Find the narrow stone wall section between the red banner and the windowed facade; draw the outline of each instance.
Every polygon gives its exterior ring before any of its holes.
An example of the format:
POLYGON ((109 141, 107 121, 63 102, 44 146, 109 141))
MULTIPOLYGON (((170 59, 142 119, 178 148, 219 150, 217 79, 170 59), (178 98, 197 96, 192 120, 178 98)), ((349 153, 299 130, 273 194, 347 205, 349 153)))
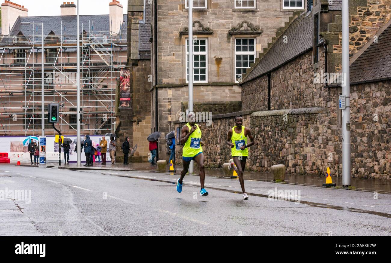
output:
MULTIPOLYGON (((128 0, 128 60, 127 68, 131 72, 131 109, 119 108, 117 96, 116 120, 118 136, 117 162, 123 161, 121 145, 130 137, 130 145, 137 145, 137 151, 131 162, 148 160, 151 133, 151 96, 149 94, 151 76, 151 5, 143 0, 128 0)), ((118 95, 118 91, 117 91, 118 95)))

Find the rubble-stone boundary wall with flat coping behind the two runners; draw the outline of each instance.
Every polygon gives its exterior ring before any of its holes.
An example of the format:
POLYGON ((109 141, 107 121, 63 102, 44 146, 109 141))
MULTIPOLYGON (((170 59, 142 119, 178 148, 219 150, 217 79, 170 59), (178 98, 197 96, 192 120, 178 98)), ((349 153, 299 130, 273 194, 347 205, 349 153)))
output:
MULTIPOLYGON (((324 107, 212 116, 211 126, 201 124, 206 167, 219 168, 230 159, 226 136, 228 129, 234 126, 236 115, 242 115, 243 125, 251 129, 256 142, 249 148, 248 170, 266 172, 272 165, 284 164, 289 174, 321 175, 327 166, 332 175, 337 173, 338 157, 334 145, 336 148, 340 145, 338 141, 328 141, 332 130, 328 124, 329 110, 324 107)), ((178 122, 176 127, 179 127, 178 122)), ((179 145, 176 155, 177 163, 181 163, 182 147, 179 145)))

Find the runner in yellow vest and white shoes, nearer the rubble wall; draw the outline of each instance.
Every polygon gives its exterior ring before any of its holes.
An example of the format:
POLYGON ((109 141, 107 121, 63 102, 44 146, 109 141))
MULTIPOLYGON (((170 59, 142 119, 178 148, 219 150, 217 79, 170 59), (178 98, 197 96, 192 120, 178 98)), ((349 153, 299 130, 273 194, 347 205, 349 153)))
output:
MULTIPOLYGON (((228 131, 227 136, 227 144, 231 148, 231 156, 233 159, 233 163, 230 163, 230 168, 235 163, 237 167, 237 173, 239 176, 240 186, 243 191, 243 199, 248 199, 248 195, 246 190, 244 190, 244 179, 243 179, 243 171, 246 167, 246 160, 248 157, 248 147, 255 144, 253 135, 251 134, 251 130, 247 127, 242 126, 243 118, 242 116, 235 117, 236 126, 232 127, 228 131), (250 138, 250 143, 247 144, 247 136, 250 138)), ((236 169, 235 169, 236 170, 236 169)))

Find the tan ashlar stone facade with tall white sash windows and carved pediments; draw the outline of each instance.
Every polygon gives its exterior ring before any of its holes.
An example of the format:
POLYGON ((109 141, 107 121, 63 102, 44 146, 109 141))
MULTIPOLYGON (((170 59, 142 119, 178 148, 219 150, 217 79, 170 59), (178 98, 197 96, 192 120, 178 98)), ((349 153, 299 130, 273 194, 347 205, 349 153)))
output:
MULTIPOLYGON (((240 102, 241 73, 295 16, 305 12, 307 1, 293 2, 194 1, 194 51, 198 52, 194 53, 194 102, 204 103, 201 108, 205 111, 213 109, 213 115, 227 112, 213 107, 213 102, 240 102), (292 7, 293 4, 298 6, 292 7)), ((163 134, 172 131, 183 103, 188 101, 187 3, 152 1, 152 129, 163 134)), ((165 148, 165 140, 161 140, 160 159, 168 160, 165 148)))

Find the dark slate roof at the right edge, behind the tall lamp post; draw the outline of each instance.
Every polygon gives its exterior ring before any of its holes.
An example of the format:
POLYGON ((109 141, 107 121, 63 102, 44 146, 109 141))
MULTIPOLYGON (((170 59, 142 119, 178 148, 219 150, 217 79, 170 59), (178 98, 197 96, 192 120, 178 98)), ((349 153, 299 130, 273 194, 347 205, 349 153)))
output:
POLYGON ((350 66, 350 83, 391 78, 391 25, 350 66))

